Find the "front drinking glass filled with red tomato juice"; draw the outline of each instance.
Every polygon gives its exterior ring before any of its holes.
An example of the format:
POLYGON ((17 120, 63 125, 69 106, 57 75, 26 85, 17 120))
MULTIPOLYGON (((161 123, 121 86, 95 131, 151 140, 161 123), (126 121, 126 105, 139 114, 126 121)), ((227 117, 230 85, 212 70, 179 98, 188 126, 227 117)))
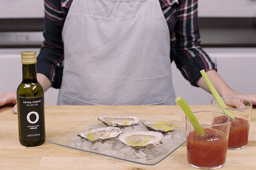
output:
POLYGON ((194 114, 199 124, 191 122, 186 116, 188 163, 192 167, 205 170, 224 166, 227 156, 230 116, 212 111, 198 111, 194 114), (215 120, 215 123, 213 123, 213 120, 215 120), (198 135, 194 125, 200 125, 205 135, 198 135))

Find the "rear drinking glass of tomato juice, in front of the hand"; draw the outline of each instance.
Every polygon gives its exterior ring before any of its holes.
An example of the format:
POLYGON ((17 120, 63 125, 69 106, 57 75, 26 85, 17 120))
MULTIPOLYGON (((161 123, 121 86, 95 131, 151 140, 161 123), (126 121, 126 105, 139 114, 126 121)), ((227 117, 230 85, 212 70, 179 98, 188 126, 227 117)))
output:
POLYGON ((221 108, 215 99, 212 100, 212 111, 224 113, 223 110, 228 110, 235 117, 231 120, 230 134, 228 141, 229 150, 239 150, 247 146, 250 118, 252 112, 252 102, 238 97, 221 97, 227 108, 221 108), (236 108, 234 103, 243 104, 242 108, 236 108))

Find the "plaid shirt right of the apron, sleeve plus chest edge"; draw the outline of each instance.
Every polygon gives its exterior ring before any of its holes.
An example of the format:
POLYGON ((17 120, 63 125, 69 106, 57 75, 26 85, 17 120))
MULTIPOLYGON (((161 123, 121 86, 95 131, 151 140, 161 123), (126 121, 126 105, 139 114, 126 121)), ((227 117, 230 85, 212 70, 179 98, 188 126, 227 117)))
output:
POLYGON ((171 61, 196 86, 201 70, 217 70, 199 41, 198 0, 160 0, 160 5, 170 30, 171 61))

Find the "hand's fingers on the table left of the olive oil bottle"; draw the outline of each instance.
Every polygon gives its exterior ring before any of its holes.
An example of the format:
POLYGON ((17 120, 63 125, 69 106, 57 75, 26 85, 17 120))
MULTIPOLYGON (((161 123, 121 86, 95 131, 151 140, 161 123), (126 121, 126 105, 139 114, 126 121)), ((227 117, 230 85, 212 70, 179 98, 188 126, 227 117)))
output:
POLYGON ((8 92, 2 94, 0 96, 0 106, 7 105, 7 104, 14 104, 15 106, 12 108, 12 112, 17 114, 17 94, 15 92, 8 92))

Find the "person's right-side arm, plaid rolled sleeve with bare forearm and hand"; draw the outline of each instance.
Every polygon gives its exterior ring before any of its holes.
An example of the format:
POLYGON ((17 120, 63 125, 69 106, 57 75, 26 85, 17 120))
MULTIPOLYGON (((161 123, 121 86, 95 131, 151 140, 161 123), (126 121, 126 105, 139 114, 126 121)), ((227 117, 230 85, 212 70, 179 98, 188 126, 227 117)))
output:
POLYGON ((174 60, 183 76, 192 85, 210 92, 204 78, 201 77, 200 71, 204 69, 220 96, 240 97, 256 105, 256 94, 241 94, 233 91, 217 73, 215 63, 202 50, 199 41, 197 2, 189 0, 189 3, 179 4, 177 16, 175 26, 177 54, 174 60))

